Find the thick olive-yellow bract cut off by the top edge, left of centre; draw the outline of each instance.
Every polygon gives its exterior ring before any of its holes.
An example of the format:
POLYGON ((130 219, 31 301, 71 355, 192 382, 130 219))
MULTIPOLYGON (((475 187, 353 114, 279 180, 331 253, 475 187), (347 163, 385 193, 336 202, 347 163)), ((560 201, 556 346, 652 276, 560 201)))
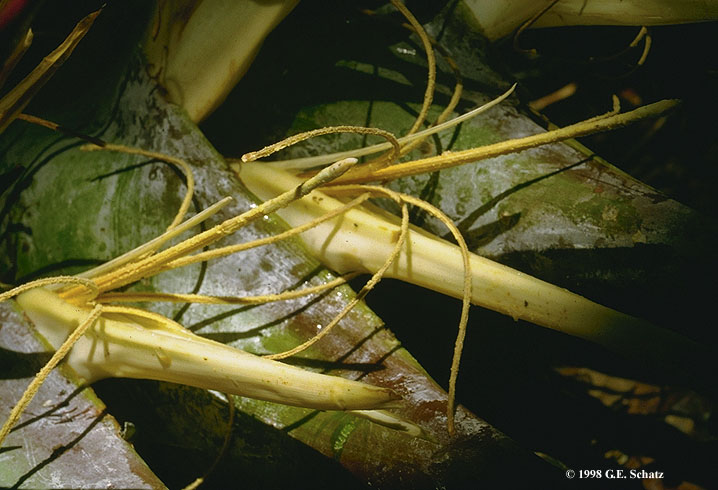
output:
POLYGON ((201 121, 245 74, 298 0, 158 2, 145 52, 169 99, 201 121))

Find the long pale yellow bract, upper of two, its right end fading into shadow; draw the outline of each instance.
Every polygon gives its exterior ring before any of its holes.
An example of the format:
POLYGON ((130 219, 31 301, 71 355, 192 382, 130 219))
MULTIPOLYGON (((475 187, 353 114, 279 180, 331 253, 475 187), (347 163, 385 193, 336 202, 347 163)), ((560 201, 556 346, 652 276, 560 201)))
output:
MULTIPOLYGON (((301 182, 287 171, 261 163, 241 164, 239 175, 262 199, 269 199, 301 182)), ((315 190, 277 214, 291 226, 299 226, 343 205, 329 194, 341 188, 333 189, 315 190)), ((327 267, 344 273, 376 271, 391 253, 398 233, 399 223, 395 216, 364 204, 305 231, 301 236, 327 267)), ((470 261, 473 304, 655 363, 675 362, 681 366, 689 362, 697 350, 691 341, 680 335, 528 274, 475 254, 471 254, 470 261)), ((461 251, 456 245, 412 226, 406 246, 387 270, 386 277, 461 298, 461 251)))

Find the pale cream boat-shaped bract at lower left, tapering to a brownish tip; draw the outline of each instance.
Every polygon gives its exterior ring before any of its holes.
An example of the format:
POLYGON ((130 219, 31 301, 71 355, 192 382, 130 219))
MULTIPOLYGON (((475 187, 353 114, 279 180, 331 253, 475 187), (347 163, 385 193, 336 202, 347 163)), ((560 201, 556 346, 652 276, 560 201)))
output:
MULTIPOLYGON (((56 349, 91 311, 41 288, 21 293, 16 301, 56 349)), ((90 383, 108 377, 156 379, 320 410, 384 408, 397 399, 386 388, 305 371, 122 314, 100 316, 75 343, 67 363, 90 383)))

